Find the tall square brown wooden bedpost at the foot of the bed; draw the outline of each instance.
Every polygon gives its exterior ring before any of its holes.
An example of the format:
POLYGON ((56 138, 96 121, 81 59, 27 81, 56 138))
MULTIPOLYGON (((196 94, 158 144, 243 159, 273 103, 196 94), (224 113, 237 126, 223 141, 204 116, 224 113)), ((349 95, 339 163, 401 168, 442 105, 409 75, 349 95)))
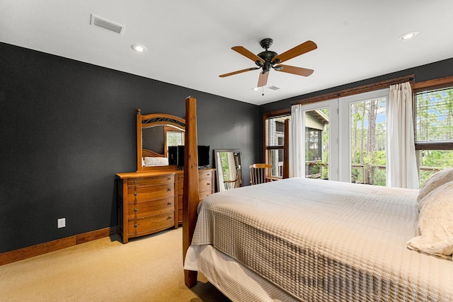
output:
MULTIPOLYGON (((184 193, 183 193, 183 261, 192 242, 197 222, 198 155, 197 155, 197 100, 185 99, 185 144, 184 144, 184 193)), ((189 288, 197 284, 197 272, 184 270, 185 285, 189 288)))

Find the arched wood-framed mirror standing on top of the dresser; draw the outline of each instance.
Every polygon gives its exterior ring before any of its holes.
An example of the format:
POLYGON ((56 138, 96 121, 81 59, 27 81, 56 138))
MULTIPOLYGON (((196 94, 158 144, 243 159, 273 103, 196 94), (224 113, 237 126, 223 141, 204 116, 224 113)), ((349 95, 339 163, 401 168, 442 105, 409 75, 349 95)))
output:
POLYGON ((185 120, 175 115, 137 109, 137 171, 176 169, 169 146, 184 145, 185 120))

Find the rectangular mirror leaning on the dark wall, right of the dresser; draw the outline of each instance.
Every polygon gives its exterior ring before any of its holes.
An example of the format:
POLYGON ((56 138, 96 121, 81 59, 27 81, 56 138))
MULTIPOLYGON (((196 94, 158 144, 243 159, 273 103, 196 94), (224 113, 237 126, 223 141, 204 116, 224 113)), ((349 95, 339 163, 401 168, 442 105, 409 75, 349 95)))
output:
POLYGON ((226 191, 242 187, 241 150, 214 150, 217 171, 217 190, 226 191))

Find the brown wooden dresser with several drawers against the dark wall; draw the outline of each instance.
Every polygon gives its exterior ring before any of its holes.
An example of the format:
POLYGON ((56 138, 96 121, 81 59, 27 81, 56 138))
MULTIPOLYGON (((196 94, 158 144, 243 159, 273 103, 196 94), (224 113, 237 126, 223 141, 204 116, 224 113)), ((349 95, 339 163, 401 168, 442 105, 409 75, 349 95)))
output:
MULTIPOLYGON (((200 199, 214 193, 215 169, 199 170, 200 199)), ((183 222, 182 170, 117 173, 118 230, 122 243, 183 222)))

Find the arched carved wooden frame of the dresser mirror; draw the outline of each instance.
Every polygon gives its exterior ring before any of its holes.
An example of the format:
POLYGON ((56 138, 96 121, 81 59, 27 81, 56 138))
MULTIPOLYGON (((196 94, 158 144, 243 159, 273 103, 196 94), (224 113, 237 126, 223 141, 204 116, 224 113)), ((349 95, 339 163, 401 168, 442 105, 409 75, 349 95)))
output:
POLYGON ((168 115, 166 113, 151 113, 149 115, 142 115, 140 108, 137 108, 137 172, 146 170, 176 170, 177 168, 176 165, 156 165, 152 167, 142 166, 142 129, 155 126, 169 126, 185 132, 185 119, 177 117, 176 115, 168 115))

